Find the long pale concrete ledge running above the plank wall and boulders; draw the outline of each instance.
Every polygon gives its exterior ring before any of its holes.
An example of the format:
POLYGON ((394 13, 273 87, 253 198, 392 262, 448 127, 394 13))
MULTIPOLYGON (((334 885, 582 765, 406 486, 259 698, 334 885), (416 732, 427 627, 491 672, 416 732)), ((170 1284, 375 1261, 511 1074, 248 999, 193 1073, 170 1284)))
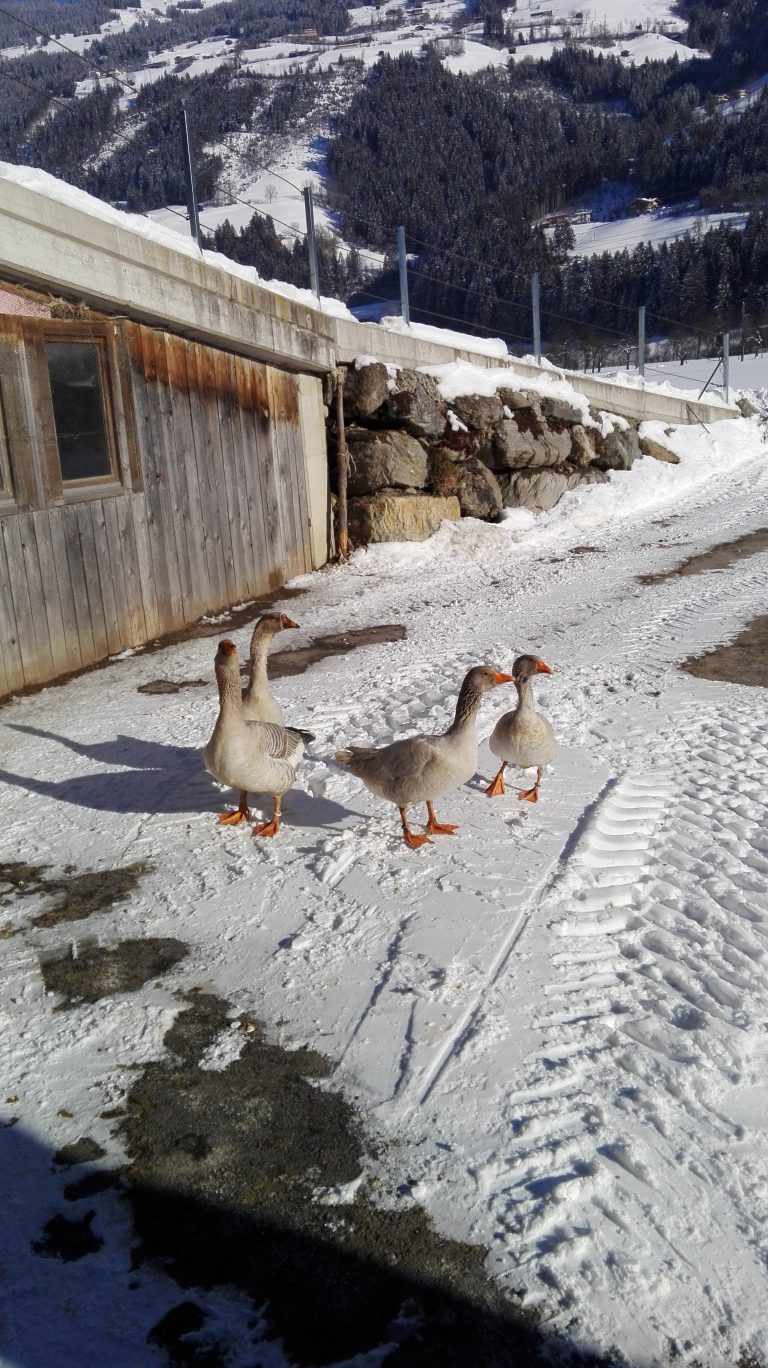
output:
MULTIPOLYGON (((0 275, 8 279, 309 375, 361 353, 409 368, 460 358, 541 375, 538 367, 513 357, 501 363, 472 352, 471 342, 456 347, 331 317, 204 261, 181 239, 174 250, 12 182, 0 186, 0 275)), ((635 390, 582 372, 568 379, 597 408, 628 419, 678 424, 738 417, 734 406, 693 397, 635 390)))

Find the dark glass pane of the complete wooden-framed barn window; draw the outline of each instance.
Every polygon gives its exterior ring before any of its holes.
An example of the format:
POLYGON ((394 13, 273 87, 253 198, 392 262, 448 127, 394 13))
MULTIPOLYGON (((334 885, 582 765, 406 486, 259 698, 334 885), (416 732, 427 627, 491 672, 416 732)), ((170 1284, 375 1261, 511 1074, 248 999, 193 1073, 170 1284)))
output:
POLYGON ((110 475, 101 367, 94 342, 47 342, 62 480, 110 475))

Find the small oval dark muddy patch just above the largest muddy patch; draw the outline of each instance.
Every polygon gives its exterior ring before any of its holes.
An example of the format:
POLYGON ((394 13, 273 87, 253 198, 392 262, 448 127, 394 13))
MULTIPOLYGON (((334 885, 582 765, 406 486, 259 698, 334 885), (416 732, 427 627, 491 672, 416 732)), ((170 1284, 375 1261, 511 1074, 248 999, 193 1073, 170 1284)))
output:
POLYGON ((42 981, 49 993, 59 993, 63 1007, 97 1003, 115 993, 136 993, 151 978, 160 978, 185 959, 189 947, 172 936, 146 936, 118 945, 78 945, 67 955, 41 956, 42 981))

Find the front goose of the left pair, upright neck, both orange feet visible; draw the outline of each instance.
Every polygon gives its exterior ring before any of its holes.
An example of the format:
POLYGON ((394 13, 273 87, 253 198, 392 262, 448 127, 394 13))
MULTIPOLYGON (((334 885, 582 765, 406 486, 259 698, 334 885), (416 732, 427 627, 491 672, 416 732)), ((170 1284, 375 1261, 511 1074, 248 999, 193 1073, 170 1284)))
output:
POLYGON ((281 798, 292 787, 311 732, 278 726, 275 722, 248 722, 242 715, 240 663, 234 642, 219 642, 215 659, 219 685, 219 715, 203 751, 205 769, 219 784, 240 789, 237 813, 222 813, 219 822, 237 826, 249 819, 248 793, 271 793, 270 822, 253 828, 253 836, 277 836, 281 825, 281 798))

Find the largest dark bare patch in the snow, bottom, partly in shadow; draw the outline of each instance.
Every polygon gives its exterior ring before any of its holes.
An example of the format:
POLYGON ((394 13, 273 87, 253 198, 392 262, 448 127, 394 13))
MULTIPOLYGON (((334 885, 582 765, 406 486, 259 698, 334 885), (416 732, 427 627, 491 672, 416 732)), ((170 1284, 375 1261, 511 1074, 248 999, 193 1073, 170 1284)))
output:
MULTIPOLYGON (((398 1368, 538 1361, 541 1332, 486 1276, 485 1249, 435 1234, 408 1182, 375 1205, 363 1176, 372 1146, 329 1086, 330 1062, 270 1044, 244 1016, 240 1056, 200 1068, 233 1021, 212 995, 188 1003, 119 1126, 137 1263, 160 1260, 183 1289, 234 1286, 296 1365, 387 1343, 398 1368)), ((186 1295, 152 1335, 172 1357, 190 1328, 212 1350, 215 1327, 186 1295)), ((229 1361, 226 1343, 205 1361, 229 1361)))

